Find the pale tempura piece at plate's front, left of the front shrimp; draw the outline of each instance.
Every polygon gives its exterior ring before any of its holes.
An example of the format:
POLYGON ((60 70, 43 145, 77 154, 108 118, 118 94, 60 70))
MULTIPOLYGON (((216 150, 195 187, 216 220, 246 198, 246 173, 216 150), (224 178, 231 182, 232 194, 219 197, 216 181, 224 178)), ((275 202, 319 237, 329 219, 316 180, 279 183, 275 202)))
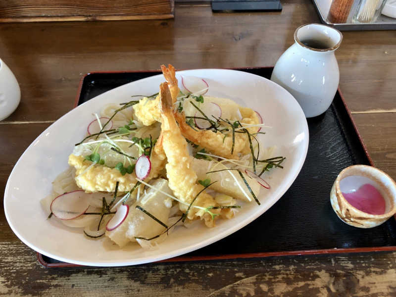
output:
POLYGON ((149 188, 139 201, 130 206, 129 213, 121 225, 112 231, 106 231, 106 236, 119 247, 125 246, 130 241, 135 242, 135 237, 151 238, 166 229, 142 210, 136 208, 139 205, 161 222, 167 222, 170 207, 165 200, 169 198, 158 190, 171 195, 172 191, 168 187, 168 181, 160 178, 155 180, 152 186, 156 190, 149 188))

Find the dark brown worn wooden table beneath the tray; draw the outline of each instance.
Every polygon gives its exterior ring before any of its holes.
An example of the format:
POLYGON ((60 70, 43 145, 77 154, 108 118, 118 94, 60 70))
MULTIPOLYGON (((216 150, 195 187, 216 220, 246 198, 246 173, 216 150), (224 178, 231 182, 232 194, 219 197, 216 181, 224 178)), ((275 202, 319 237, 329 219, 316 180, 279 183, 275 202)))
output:
MULTIPOLYGON (((90 71, 272 66, 301 24, 319 22, 308 0, 281 13, 213 14, 176 4, 174 20, 0 24, 0 56, 22 98, 0 122, 0 195, 28 145, 73 107, 90 71)), ((396 33, 344 32, 340 87, 380 169, 396 179, 396 33)), ((2 205, 2 204, 1 204, 2 205)), ((2 296, 395 296, 396 252, 43 268, 0 212, 2 296)))

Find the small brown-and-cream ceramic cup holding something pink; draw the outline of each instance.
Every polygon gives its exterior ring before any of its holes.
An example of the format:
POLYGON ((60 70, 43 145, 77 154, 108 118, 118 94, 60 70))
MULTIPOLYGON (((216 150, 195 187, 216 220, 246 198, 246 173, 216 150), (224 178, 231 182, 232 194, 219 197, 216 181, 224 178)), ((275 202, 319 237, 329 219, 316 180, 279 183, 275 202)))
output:
POLYGON ((352 165, 337 176, 330 194, 331 206, 348 225, 372 228, 381 225, 396 213, 396 183, 385 172, 367 165, 352 165), (384 214, 370 214, 353 207, 343 193, 359 191, 363 185, 374 186, 385 200, 384 214))

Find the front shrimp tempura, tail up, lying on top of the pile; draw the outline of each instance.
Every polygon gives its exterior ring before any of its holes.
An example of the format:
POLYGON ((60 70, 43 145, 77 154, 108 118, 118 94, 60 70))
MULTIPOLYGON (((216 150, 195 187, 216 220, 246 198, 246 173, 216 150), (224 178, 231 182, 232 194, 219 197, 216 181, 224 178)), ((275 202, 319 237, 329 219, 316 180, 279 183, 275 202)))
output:
MULTIPOLYGON (((162 146, 168 160, 165 168, 169 180, 169 188, 173 191, 176 198, 187 203, 180 203, 179 206, 180 210, 186 212, 189 204, 203 189, 203 186, 197 184, 197 174, 191 168, 191 156, 187 149, 187 142, 182 136, 174 118, 171 95, 166 83, 160 85, 160 102, 162 146)), ((193 205, 206 208, 217 206, 218 204, 213 197, 203 191, 199 194, 193 205)), ((221 210, 221 212, 223 211, 229 212, 229 209, 221 210)), ((220 209, 213 209, 212 213, 219 214, 220 209)), ((210 214, 202 209, 191 207, 187 218, 193 220, 197 217, 203 219, 205 225, 208 227, 214 225, 214 220, 210 214)))

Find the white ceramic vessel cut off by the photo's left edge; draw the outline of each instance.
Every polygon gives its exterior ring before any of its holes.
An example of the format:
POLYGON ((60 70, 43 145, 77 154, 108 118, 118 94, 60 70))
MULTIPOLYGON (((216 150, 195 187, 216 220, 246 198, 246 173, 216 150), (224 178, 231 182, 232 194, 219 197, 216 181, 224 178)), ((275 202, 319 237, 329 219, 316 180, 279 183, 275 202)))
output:
POLYGON ((16 78, 0 59, 0 121, 16 109, 20 99, 21 90, 16 78))

